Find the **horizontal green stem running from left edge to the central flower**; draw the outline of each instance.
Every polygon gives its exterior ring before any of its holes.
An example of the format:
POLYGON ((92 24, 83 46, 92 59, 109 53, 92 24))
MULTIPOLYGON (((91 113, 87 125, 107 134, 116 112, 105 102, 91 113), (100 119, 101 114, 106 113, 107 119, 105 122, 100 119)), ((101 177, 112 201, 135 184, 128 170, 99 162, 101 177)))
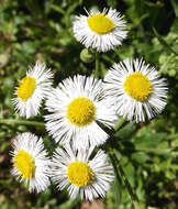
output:
POLYGON ((26 121, 26 120, 15 120, 15 119, 0 119, 0 124, 24 124, 24 125, 35 125, 44 128, 44 122, 37 121, 26 121))

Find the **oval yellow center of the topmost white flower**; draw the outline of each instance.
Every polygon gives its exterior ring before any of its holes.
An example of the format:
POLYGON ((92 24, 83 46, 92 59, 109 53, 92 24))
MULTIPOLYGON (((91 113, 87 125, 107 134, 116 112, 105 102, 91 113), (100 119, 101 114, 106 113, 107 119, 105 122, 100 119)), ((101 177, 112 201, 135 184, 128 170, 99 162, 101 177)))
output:
POLYGON ((87 19, 89 28, 99 34, 105 34, 114 30, 114 23, 102 13, 92 14, 87 19))

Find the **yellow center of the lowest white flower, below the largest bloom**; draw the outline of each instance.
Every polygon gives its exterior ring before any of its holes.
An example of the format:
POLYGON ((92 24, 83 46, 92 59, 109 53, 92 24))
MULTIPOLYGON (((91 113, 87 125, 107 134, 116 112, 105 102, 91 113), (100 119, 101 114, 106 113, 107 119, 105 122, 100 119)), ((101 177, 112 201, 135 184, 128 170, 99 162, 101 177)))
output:
POLYGON ((94 174, 87 163, 74 162, 68 165, 67 177, 77 187, 85 187, 94 179, 94 174))

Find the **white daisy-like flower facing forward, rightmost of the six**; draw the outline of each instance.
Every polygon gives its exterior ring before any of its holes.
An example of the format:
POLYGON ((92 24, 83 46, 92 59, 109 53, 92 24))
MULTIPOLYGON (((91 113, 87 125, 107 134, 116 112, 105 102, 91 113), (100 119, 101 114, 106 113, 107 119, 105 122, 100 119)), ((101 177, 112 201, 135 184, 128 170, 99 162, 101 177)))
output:
POLYGON ((143 59, 114 64, 104 77, 107 95, 115 98, 118 113, 136 122, 152 119, 166 106, 167 85, 143 59))

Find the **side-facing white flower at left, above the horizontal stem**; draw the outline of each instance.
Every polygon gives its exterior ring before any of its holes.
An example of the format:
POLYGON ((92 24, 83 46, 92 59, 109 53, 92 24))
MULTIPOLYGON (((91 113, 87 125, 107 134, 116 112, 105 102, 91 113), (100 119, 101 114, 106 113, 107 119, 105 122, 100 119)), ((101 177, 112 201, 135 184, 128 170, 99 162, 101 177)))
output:
POLYGON ((16 98, 12 99, 21 117, 34 117, 38 113, 42 100, 52 86, 53 74, 41 63, 36 63, 20 80, 15 89, 16 98))

